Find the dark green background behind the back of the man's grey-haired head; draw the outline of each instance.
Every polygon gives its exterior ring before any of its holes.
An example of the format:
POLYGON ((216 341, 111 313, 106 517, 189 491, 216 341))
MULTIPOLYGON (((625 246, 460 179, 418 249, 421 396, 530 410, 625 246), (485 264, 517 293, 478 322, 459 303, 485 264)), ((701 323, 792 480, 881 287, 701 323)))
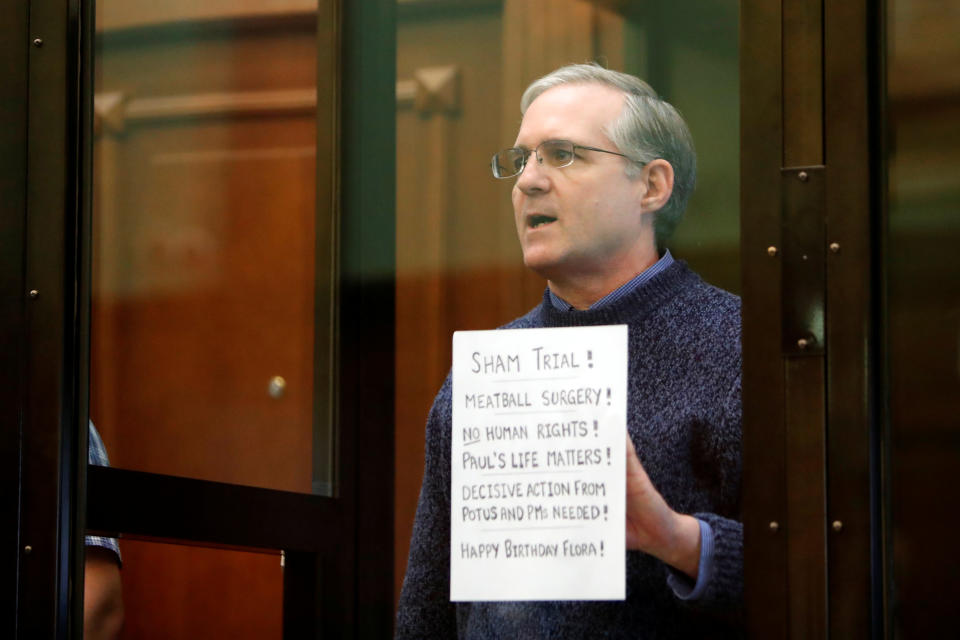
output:
POLYGON ((697 186, 670 250, 705 280, 740 292, 740 58, 736 3, 624 3, 624 70, 683 114, 697 186), (691 19, 691 16, 696 16, 691 19))

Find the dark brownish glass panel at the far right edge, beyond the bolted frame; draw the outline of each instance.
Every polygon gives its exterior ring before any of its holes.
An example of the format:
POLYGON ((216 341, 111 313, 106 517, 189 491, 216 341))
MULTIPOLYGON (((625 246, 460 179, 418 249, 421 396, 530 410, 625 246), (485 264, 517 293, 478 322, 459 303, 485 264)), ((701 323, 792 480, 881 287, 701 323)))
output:
POLYGON ((952 628, 960 572, 933 533, 960 528, 960 7, 887 16, 888 614, 894 637, 924 638, 952 628))

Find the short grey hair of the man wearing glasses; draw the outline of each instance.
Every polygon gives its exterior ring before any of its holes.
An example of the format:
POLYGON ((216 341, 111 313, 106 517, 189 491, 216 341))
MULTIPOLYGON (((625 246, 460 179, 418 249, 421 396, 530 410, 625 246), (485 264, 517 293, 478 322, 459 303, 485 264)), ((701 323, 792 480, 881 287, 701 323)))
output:
POLYGON ((571 64, 535 80, 520 98, 520 113, 548 89, 562 84, 601 84, 623 91, 623 111, 603 132, 633 160, 627 175, 640 174, 643 165, 662 158, 673 167, 673 193, 654 221, 658 246, 670 237, 683 218, 697 180, 697 154, 690 129, 680 113, 660 98, 646 82, 598 64, 571 64))

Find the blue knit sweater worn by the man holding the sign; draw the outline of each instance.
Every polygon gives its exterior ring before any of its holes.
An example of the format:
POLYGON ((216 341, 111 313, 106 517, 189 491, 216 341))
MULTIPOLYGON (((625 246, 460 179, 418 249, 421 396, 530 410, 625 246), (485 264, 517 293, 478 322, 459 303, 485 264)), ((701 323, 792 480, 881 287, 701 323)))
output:
POLYGON ((627 552, 623 602, 450 600, 450 379, 427 421, 426 463, 398 638, 735 638, 740 628, 740 301, 683 262, 617 302, 561 312, 544 301, 504 328, 627 324, 627 429, 654 486, 676 511, 710 524, 712 575, 700 598, 679 598, 677 574, 627 552))

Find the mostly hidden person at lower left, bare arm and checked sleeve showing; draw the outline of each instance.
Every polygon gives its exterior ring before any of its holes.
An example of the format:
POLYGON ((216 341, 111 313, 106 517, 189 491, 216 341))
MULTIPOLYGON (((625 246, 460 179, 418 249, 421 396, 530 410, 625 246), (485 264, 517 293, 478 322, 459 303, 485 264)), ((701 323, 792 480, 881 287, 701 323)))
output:
MULTIPOLYGON (((107 449, 88 424, 87 464, 110 466, 107 449)), ((112 640, 123 626, 123 591, 120 583, 120 546, 116 538, 87 536, 83 565, 83 637, 112 640)))

